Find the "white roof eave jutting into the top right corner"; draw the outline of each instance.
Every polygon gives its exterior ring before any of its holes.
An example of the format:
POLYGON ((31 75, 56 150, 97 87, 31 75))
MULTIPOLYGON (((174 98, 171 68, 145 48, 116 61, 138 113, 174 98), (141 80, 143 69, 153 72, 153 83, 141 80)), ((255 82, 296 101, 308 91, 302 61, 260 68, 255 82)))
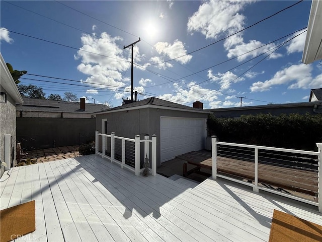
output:
POLYGON ((322 1, 312 1, 302 62, 310 64, 322 59, 322 1))

